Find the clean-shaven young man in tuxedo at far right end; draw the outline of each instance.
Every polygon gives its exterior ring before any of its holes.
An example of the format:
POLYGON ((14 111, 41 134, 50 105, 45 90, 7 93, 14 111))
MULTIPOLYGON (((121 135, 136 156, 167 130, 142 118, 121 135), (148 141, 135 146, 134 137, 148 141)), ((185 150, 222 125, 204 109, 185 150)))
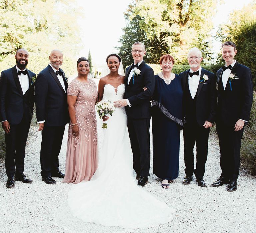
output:
POLYGON ((249 120, 253 98, 251 70, 234 60, 236 53, 233 42, 223 43, 222 58, 225 66, 217 71, 216 129, 220 144, 222 172, 212 186, 228 184, 228 191, 237 189, 241 140, 244 125, 249 120))

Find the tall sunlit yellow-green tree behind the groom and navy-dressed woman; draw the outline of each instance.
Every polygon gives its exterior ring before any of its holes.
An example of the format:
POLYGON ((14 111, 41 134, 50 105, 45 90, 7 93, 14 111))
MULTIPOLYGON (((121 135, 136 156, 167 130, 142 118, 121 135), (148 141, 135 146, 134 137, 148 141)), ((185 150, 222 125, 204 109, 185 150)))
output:
MULTIPOLYGON (((217 1, 136 0, 125 13, 129 22, 124 28, 125 35, 120 42, 124 39, 125 42, 132 40, 134 35, 131 34, 129 39, 126 32, 131 31, 134 26, 131 32, 139 33, 144 37, 144 42, 149 42, 149 47, 153 48, 152 55, 149 56, 155 60, 159 60, 160 55, 168 52, 174 56, 177 63, 187 64, 188 50, 198 47, 203 52, 204 62, 207 63, 212 55, 209 32, 213 26, 212 18, 217 1)), ((127 53, 126 45, 120 47, 120 52, 122 49, 127 53)))

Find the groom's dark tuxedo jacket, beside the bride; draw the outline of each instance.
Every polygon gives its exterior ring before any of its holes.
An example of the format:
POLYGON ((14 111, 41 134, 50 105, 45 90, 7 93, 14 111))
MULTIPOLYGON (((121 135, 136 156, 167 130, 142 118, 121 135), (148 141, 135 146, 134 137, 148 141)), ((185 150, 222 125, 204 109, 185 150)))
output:
POLYGON ((131 107, 126 106, 126 114, 133 119, 150 118, 151 117, 151 97, 155 88, 155 75, 153 69, 144 61, 139 65, 140 74, 132 78, 127 85, 128 77, 131 71, 131 66, 125 71, 125 94, 124 99, 128 99, 131 107), (146 87, 147 91, 143 91, 146 87))

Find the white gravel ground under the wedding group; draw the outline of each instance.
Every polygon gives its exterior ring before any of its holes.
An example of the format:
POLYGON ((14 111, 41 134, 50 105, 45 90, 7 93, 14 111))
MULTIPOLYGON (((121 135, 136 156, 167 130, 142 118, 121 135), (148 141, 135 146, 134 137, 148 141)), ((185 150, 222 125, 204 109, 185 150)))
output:
MULTIPOLYGON (((101 138, 100 129, 99 147, 101 138)), ((65 171, 66 143, 67 127, 59 155, 62 171, 65 171)), ((182 184, 183 138, 180 146, 179 177, 170 184, 169 189, 161 187, 160 180, 152 173, 151 162, 149 183, 144 188, 175 208, 176 212, 168 223, 135 231, 84 224, 80 221, 74 221, 72 226, 66 226, 65 223, 55 225, 54 213, 61 211, 61 205, 66 200, 72 184, 61 183, 61 178, 56 178, 56 185, 41 181, 40 144, 41 133, 37 132, 37 127, 31 127, 24 170, 24 173, 33 179, 31 184, 16 181, 15 188, 7 189, 4 160, 0 161, 0 232, 256 232, 255 177, 241 170, 236 192, 227 192, 227 185, 210 186, 220 175, 220 153, 216 138, 210 137, 209 140, 204 176, 206 188, 198 187, 195 179, 190 185, 182 184)))

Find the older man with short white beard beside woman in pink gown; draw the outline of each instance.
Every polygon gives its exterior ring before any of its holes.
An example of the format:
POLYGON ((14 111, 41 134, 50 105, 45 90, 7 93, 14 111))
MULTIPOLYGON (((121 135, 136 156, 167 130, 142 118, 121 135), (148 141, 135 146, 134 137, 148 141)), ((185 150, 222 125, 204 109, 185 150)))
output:
POLYGON ((53 50, 49 57, 50 64, 42 70, 35 83, 36 117, 38 131, 42 130, 40 152, 41 176, 47 184, 55 184, 52 177, 61 177, 59 153, 65 125, 69 122, 67 105, 68 83, 65 73, 60 69, 63 54, 53 50))

